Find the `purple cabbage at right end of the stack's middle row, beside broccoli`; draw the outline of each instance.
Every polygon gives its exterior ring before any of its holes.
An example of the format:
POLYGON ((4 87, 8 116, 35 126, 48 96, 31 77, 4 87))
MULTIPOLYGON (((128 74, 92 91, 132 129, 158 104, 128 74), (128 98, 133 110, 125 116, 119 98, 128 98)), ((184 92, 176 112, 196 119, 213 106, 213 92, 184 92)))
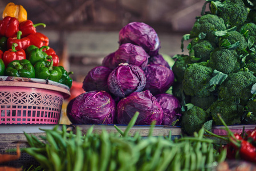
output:
POLYGON ((149 64, 145 69, 145 76, 147 82, 144 90, 149 89, 154 96, 165 93, 174 82, 173 71, 157 64, 149 64))

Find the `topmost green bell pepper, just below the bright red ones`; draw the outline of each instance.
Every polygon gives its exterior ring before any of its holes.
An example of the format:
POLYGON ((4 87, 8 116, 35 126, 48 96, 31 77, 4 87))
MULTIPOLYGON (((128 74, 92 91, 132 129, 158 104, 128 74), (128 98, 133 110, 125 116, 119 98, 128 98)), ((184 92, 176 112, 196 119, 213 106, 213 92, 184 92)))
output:
POLYGON ((26 59, 28 59, 31 62, 32 66, 34 66, 34 64, 36 62, 47 60, 46 58, 48 55, 46 54, 46 52, 43 51, 44 48, 46 48, 46 50, 48 50, 50 47, 42 46, 42 47, 38 48, 34 45, 30 45, 26 49, 26 54, 27 54, 26 59))

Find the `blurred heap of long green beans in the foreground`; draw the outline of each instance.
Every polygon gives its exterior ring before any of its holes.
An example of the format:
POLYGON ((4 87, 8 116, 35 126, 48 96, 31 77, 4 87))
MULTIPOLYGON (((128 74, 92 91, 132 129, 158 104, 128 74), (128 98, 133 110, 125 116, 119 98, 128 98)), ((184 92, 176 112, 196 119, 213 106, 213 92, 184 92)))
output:
POLYGON ((40 141, 25 133, 30 147, 21 149, 33 156, 44 170, 212 170, 214 162, 226 158, 226 150, 219 153, 213 140, 204 137, 204 128, 193 137, 172 140, 168 137, 130 136, 136 123, 135 113, 125 131, 115 126, 117 133, 103 129, 95 133, 94 127, 84 135, 79 127, 76 133, 67 132, 66 125, 58 129, 43 130, 40 141))

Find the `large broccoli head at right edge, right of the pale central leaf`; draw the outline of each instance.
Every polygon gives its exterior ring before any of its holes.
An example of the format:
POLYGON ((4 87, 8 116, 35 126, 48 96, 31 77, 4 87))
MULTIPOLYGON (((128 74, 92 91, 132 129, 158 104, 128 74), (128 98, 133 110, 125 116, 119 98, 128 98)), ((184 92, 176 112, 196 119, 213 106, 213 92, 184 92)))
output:
POLYGON ((256 83, 256 77, 251 72, 231 73, 219 87, 218 98, 241 100, 241 104, 246 104, 252 97, 251 87, 254 83, 256 83))

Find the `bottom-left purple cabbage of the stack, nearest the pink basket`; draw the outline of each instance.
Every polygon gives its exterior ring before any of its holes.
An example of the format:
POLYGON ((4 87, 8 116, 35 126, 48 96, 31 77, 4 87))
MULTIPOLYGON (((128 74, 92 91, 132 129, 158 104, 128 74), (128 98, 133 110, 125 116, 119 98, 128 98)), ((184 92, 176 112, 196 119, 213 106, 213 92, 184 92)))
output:
POLYGON ((115 124, 116 103, 105 91, 90 91, 72 99, 67 116, 73 124, 115 124))

